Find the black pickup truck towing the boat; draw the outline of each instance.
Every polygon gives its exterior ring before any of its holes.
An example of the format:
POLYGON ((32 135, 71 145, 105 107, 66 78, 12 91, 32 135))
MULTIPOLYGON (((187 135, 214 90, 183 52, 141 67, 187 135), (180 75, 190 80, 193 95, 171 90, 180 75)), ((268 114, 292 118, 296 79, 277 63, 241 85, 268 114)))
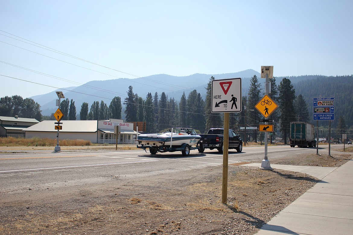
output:
MULTIPOLYGON (((199 134, 201 136, 199 152, 203 153, 205 148, 209 148, 223 153, 223 133, 222 128, 211 128, 207 134, 199 134)), ((236 149, 237 152, 243 150, 243 140, 233 130, 229 130, 229 149, 236 149)))

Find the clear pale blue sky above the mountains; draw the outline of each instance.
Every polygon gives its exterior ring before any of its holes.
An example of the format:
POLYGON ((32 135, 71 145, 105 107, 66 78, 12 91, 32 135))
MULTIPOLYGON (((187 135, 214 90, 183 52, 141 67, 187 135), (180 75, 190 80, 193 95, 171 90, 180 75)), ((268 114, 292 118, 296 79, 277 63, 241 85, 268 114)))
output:
POLYGON ((352 0, 0 0, 0 97, 269 65, 352 75, 352 11, 352 0))

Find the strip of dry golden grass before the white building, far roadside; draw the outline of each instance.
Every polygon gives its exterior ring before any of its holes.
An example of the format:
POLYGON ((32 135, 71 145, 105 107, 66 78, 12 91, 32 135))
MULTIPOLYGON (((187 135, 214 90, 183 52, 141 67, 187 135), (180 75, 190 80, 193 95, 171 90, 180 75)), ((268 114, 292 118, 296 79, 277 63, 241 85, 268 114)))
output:
MULTIPOLYGON (((89 140, 59 140, 60 146, 90 146, 89 140)), ((16 146, 56 146, 56 139, 50 138, 13 138, 1 137, 0 146, 16 147, 16 146)))

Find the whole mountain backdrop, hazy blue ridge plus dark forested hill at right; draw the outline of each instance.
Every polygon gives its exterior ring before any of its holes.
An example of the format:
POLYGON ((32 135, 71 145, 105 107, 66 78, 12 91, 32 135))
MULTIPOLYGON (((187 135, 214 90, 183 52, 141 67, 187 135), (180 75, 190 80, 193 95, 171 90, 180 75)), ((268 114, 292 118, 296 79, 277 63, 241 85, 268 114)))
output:
MULTIPOLYGON (((261 78, 260 73, 247 69, 237 73, 225 74, 192 74, 189 76, 172 76, 166 74, 151 75, 144 78, 127 79, 119 78, 106 81, 90 81, 78 87, 67 87, 59 89, 65 95, 65 98, 75 101, 76 112, 79 114, 83 102, 88 103, 89 107, 94 101, 101 100, 109 106, 110 101, 118 96, 124 101, 127 97, 128 87, 133 87, 133 92, 138 94, 143 99, 146 98, 148 92, 158 93, 160 97, 164 92, 168 98, 174 98, 177 102, 180 101, 181 95, 185 92, 186 97, 194 89, 197 90, 205 99, 207 84, 214 76, 215 79, 241 78, 242 95, 246 96, 251 78, 256 75, 264 90, 264 79, 261 78)), ((335 122, 338 124, 338 119, 343 116, 346 124, 353 125, 353 76, 322 76, 322 75, 302 75, 302 76, 279 76, 276 77, 276 85, 278 86, 283 78, 291 80, 295 89, 295 95, 303 95, 307 105, 309 115, 312 115, 313 98, 316 97, 335 97, 335 122)), ((30 97, 41 105, 42 115, 51 115, 57 109, 55 100, 57 96, 55 92, 47 94, 36 95, 30 97)), ((123 111, 125 107, 123 106, 123 111)), ((311 121, 313 123, 313 120, 311 121)), ((320 125, 326 125, 324 122, 320 125)))

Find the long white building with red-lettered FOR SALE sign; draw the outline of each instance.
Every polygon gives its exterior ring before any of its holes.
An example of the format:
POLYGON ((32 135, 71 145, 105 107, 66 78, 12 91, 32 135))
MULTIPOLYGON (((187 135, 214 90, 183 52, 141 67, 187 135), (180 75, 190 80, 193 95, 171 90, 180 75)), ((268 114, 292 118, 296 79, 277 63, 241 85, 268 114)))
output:
MULTIPOLYGON (((91 143, 116 143, 114 126, 120 126, 118 144, 133 144, 137 132, 133 130, 133 123, 125 123, 122 119, 109 120, 61 120, 62 129, 59 130, 59 140, 89 140, 91 143)), ((26 138, 40 137, 56 139, 56 120, 44 120, 38 124, 23 129, 26 138)))

